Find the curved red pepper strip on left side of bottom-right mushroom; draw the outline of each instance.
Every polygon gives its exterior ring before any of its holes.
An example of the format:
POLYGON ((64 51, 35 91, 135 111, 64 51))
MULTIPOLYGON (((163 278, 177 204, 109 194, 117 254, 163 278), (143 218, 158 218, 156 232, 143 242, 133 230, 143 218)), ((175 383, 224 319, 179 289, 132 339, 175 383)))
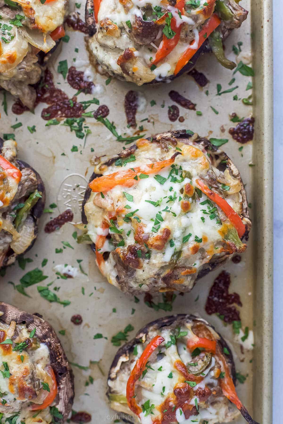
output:
POLYGON ((132 369, 132 372, 128 379, 127 388, 126 388, 126 398, 127 398, 128 406, 130 410, 134 414, 137 414, 138 416, 142 412, 142 409, 137 404, 136 399, 134 398, 134 386, 137 380, 142 375, 143 371, 145 370, 146 364, 149 360, 150 355, 161 343, 164 342, 164 340, 165 339, 162 336, 155 336, 149 342, 149 344, 146 346, 146 349, 144 349, 143 353, 140 355, 140 358, 135 363, 134 368, 132 369))

